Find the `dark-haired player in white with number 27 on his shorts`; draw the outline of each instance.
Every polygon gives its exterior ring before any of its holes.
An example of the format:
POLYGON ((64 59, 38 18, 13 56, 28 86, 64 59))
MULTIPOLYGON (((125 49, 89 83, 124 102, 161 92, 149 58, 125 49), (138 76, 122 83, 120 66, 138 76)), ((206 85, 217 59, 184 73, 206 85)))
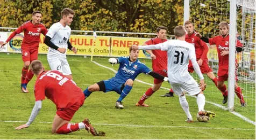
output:
POLYGON ((70 79, 73 79, 72 73, 67 61, 67 49, 75 54, 77 49, 69 42, 71 29, 69 25, 73 21, 74 11, 65 8, 61 11, 61 20, 53 24, 46 34, 44 43, 49 46, 47 60, 52 71, 59 71, 70 79))

